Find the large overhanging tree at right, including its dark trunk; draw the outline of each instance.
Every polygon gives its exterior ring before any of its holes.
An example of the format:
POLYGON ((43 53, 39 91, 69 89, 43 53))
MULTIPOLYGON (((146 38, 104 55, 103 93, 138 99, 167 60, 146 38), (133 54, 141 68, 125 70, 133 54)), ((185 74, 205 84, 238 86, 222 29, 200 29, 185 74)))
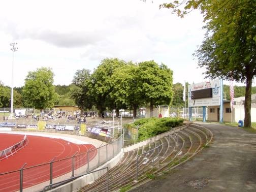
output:
POLYGON ((199 66, 206 68, 207 77, 246 83, 244 126, 251 127, 251 84, 256 75, 256 2, 185 0, 160 7, 170 8, 181 17, 193 9, 202 11, 207 33, 195 54, 199 66))

